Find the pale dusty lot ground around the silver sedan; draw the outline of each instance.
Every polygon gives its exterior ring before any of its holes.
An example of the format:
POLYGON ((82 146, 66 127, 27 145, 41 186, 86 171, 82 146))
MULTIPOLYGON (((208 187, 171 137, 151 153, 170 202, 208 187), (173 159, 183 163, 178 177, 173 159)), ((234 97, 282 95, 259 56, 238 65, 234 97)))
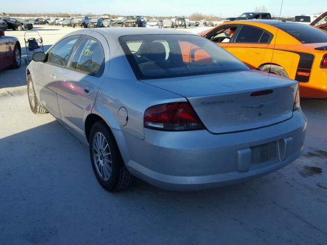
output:
MULTIPOLYGON (((49 47, 74 29, 35 30, 49 47)), ((275 173, 197 192, 136 180, 109 193, 87 146, 32 114, 25 68, 0 71, 0 244, 326 244, 326 100, 301 100, 305 154, 275 173)))

